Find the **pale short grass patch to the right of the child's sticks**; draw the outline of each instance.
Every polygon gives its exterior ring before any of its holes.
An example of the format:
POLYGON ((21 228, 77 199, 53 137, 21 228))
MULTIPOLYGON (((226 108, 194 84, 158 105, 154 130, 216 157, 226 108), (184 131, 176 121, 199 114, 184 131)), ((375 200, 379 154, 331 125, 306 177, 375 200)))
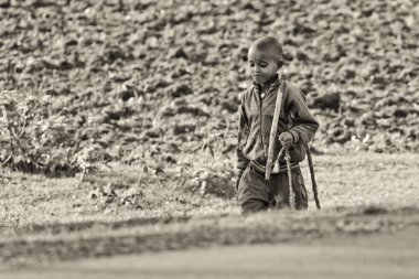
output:
MULTIPOLYGON (((356 153, 316 155, 314 160, 323 208, 419 202, 419 154, 356 153)), ((305 178, 310 184, 308 173, 305 178)))

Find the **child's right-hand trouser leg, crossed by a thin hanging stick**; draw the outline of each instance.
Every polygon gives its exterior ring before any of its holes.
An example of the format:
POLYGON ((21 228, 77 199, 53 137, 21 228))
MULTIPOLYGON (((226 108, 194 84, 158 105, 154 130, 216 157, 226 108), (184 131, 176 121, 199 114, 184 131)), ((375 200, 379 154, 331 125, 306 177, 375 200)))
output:
MULTIPOLYGON (((304 180, 300 168, 292 171, 292 189, 294 193, 296 210, 307 210, 309 207, 307 190, 304 186, 304 180)), ((270 180, 269 186, 271 187, 272 197, 277 196, 278 207, 286 208, 290 206, 290 186, 288 180, 288 173, 276 174, 270 180)))

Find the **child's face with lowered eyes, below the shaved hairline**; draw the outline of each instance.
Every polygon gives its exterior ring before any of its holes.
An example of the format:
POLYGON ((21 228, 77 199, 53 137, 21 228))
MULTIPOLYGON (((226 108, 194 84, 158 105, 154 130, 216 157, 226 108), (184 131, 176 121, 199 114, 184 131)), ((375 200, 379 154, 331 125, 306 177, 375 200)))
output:
POLYGON ((277 75, 278 62, 259 50, 250 47, 248 53, 249 72, 255 83, 265 84, 277 75))

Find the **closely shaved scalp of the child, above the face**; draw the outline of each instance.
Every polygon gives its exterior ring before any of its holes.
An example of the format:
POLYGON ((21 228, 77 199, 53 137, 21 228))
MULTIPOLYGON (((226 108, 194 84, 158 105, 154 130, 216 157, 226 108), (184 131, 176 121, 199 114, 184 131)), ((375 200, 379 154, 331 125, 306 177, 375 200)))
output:
POLYGON ((256 40, 249 47, 248 56, 255 52, 282 64, 282 46, 273 36, 264 36, 256 40))

